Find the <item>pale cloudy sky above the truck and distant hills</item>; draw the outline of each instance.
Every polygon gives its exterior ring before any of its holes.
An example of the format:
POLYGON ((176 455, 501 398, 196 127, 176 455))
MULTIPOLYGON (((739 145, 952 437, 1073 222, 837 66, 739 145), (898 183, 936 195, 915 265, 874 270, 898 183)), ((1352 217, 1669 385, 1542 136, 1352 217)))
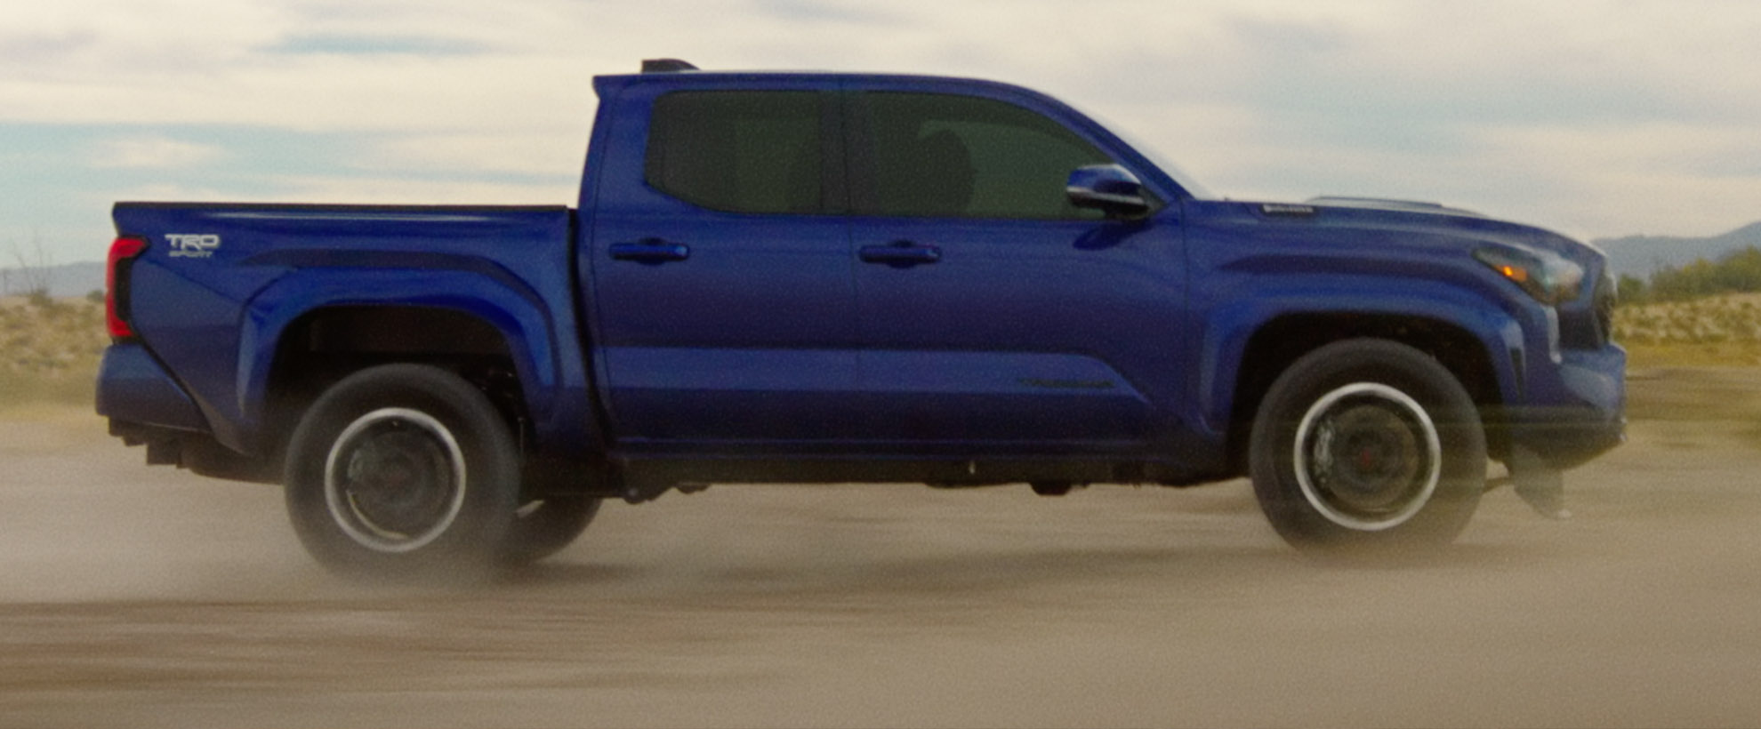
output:
POLYGON ((1219 195, 1562 232, 1761 220, 1754 0, 58 0, 0 5, 0 264, 116 199, 574 197, 593 74, 903 70, 1051 92, 1219 195))

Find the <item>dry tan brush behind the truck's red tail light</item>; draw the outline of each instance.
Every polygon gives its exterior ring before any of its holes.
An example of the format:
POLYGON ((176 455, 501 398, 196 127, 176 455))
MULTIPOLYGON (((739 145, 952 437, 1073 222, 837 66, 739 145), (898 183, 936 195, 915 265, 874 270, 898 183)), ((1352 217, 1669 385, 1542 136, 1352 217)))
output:
POLYGON ((0 299, 0 407, 90 405, 107 343, 102 301, 0 299))

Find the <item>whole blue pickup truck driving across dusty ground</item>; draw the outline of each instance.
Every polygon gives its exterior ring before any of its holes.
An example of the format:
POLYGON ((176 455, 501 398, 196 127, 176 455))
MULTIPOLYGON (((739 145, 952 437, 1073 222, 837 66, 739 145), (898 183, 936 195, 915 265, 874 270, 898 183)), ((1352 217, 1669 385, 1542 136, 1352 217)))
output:
POLYGON ((593 83, 578 208, 118 202, 97 409, 285 484, 359 576, 488 574, 604 498, 1249 475, 1315 555, 1539 509, 1624 430, 1604 257, 1425 202, 1217 199, 1046 95, 593 83))

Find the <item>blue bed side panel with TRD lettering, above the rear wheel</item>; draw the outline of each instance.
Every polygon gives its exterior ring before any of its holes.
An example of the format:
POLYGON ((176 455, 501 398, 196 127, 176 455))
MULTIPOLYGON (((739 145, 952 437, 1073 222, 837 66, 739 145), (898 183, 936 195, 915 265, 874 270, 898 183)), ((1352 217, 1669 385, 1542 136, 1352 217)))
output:
MULTIPOLYGON (((294 320, 331 306, 463 312, 507 340, 541 447, 588 437, 567 208, 118 204, 118 231, 220 236, 211 259, 136 262, 136 329, 222 444, 255 453, 269 366, 294 320)), ((151 423, 143 414, 143 423, 151 423)))

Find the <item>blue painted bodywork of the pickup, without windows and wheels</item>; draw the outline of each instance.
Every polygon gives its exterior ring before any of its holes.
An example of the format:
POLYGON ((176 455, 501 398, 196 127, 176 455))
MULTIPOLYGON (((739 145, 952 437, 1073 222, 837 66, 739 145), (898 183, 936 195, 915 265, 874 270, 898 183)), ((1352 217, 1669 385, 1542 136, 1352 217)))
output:
MULTIPOLYGON (((604 76, 595 92, 579 213, 118 204, 123 234, 217 234, 222 247, 173 259, 155 245, 136 264, 143 343, 107 354, 100 407, 210 428, 255 453, 289 326, 329 306, 433 306, 502 333, 535 447, 551 456, 609 446, 715 458, 741 444, 1118 458, 1227 475, 1222 444, 1254 333, 1347 313, 1470 336, 1520 438, 1541 444, 1525 426, 1562 423, 1590 440, 1618 435, 1618 347, 1562 354, 1560 315, 1470 255, 1543 247, 1594 280, 1601 255, 1560 236, 1444 208, 1194 199, 1069 106, 990 81, 692 72, 604 76), (643 183, 653 99, 729 86, 1006 100, 1106 150, 1162 208, 1134 222, 736 215, 643 183), (865 261, 898 241, 935 255, 865 261)), ((1558 312, 1583 315, 1587 299, 1558 312)))

